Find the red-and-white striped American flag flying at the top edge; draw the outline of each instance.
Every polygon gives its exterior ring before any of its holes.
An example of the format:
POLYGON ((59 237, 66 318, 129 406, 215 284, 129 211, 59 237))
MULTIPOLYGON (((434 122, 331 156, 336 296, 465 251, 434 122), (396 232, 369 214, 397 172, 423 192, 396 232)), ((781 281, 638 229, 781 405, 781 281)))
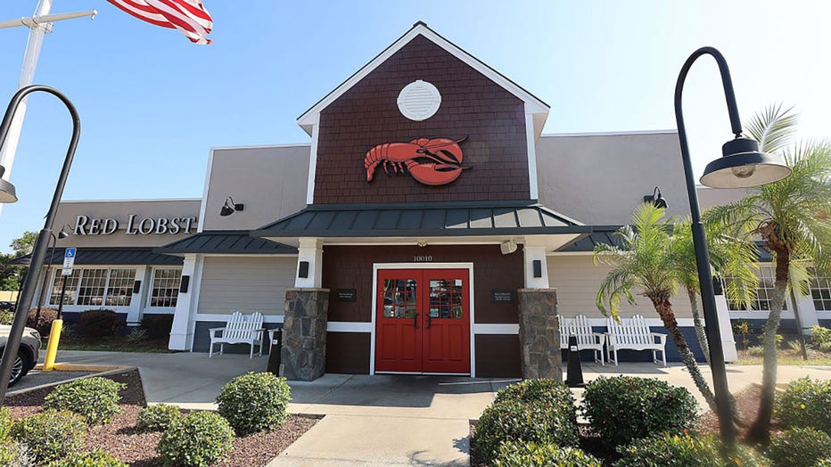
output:
POLYGON ((107 0, 138 18, 162 28, 178 29, 191 42, 210 44, 210 13, 200 0, 107 0))

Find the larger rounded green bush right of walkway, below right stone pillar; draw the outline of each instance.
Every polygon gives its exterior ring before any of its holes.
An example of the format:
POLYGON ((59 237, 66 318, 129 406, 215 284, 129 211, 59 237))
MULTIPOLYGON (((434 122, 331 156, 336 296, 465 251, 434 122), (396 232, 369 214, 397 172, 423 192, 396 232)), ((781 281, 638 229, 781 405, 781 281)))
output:
POLYGON ((476 425, 473 449, 492 463, 503 442, 577 447, 577 414, 562 382, 522 381, 502 389, 476 425))

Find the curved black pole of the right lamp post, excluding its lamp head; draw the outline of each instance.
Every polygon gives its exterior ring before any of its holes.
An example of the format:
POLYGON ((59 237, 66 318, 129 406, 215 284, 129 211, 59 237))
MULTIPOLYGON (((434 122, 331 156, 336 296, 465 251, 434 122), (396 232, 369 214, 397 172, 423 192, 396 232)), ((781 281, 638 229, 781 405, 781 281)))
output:
POLYGON ((701 223, 701 212, 698 206, 698 193, 695 191, 695 178, 687 145, 687 129, 684 127, 684 115, 681 111, 681 94, 684 90, 684 81, 695 60, 702 55, 712 55, 719 64, 721 85, 724 87, 724 96, 727 99, 730 125, 736 137, 742 135, 742 124, 736 107, 736 94, 733 92, 733 81, 730 79, 730 70, 724 56, 712 47, 702 47, 689 56, 681 67, 678 83, 675 86, 675 119, 678 124, 681 159, 684 162, 684 175, 687 178, 687 196, 689 210, 692 217, 693 245, 695 246, 695 263, 698 270, 698 283, 701 287, 701 302, 706 325, 707 340, 710 343, 710 365, 712 369, 712 385, 715 393, 716 411, 719 414, 721 438, 725 445, 732 446, 736 442, 736 430, 733 427, 733 411, 730 404, 727 370, 724 366, 724 348, 721 344, 719 329, 719 315, 716 311, 715 293, 712 288, 712 273, 710 271, 710 253, 707 251, 707 240, 704 227, 701 223))

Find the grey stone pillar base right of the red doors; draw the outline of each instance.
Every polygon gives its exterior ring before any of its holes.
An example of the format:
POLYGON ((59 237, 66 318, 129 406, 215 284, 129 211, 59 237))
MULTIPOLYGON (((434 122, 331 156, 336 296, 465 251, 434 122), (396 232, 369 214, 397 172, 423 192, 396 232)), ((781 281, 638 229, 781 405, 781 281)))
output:
POLYGON ((522 378, 563 381, 556 289, 520 289, 517 297, 522 378))

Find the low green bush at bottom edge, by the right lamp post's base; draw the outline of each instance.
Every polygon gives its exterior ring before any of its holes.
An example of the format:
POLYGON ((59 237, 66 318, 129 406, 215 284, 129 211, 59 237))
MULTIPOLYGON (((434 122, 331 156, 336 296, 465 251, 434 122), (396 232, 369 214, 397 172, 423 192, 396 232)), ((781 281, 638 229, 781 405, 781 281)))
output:
POLYGON ((769 461, 753 447, 739 445, 723 459, 721 442, 712 436, 698 437, 684 433, 664 434, 638 439, 617 448, 621 459, 614 467, 767 467, 769 461))

